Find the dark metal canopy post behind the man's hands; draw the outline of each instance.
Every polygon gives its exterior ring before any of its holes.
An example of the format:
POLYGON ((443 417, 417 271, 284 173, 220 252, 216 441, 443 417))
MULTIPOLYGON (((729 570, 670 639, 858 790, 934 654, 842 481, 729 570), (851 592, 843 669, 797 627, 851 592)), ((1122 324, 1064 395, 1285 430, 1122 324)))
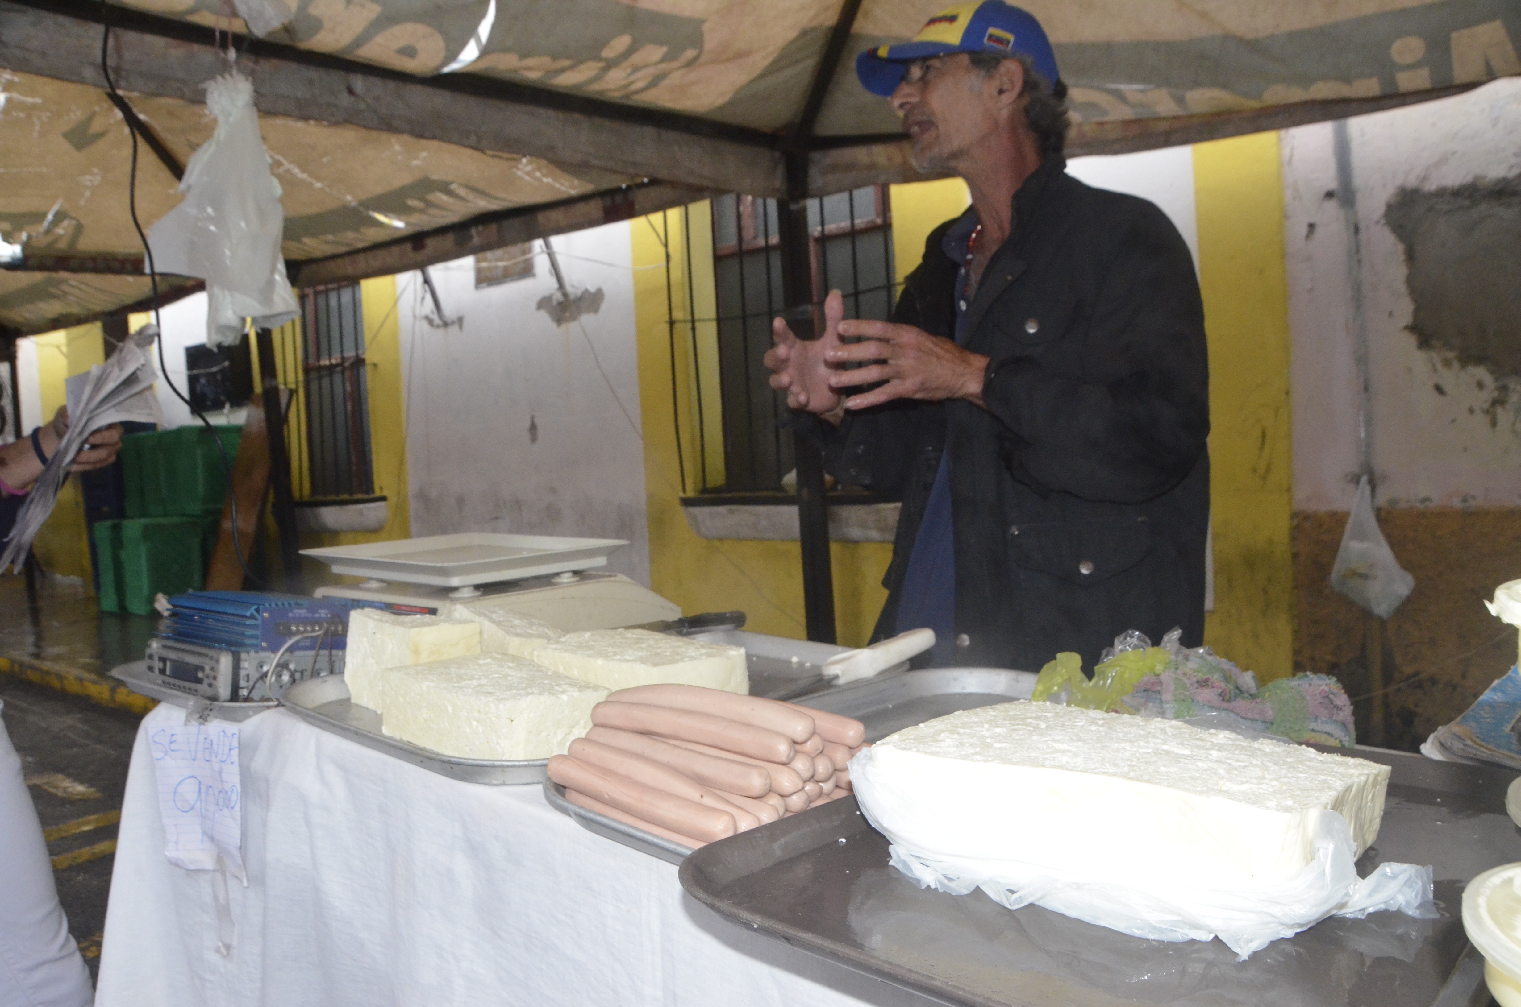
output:
MULTIPOLYGON (((806 170, 803 158, 788 157, 788 175, 806 170)), ((791 189, 791 186, 789 186, 791 189)), ((792 193, 799 195, 799 193, 792 193)), ((814 301, 812 239, 808 233, 808 204, 799 199, 777 201, 777 237, 782 251, 782 300, 789 318, 814 301)), ((821 316, 814 315, 814 330, 806 332, 806 322, 792 322, 805 329, 797 335, 817 339, 821 316)), ((792 458, 797 462, 797 531, 803 549, 803 613, 808 639, 820 643, 835 642, 835 578, 829 560, 829 507, 824 499, 824 458, 802 434, 792 435, 792 458)))

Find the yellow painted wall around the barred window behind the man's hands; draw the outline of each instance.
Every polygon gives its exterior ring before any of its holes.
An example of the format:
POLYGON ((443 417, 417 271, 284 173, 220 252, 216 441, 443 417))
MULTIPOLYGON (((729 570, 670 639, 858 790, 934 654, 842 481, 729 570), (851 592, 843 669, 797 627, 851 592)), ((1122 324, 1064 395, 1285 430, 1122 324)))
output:
MULTIPOLYGON (((893 251, 897 278, 902 280, 923 253, 925 237, 941 221, 961 213, 967 205, 966 186, 960 179, 894 186, 893 251)), ((671 248, 671 278, 677 318, 712 318, 712 240, 707 204, 689 208, 692 227, 692 283, 687 295, 686 236, 683 214, 672 210, 634 222, 634 313, 639 333, 639 402, 645 430, 645 487, 649 520, 651 587, 681 605, 683 612, 742 610, 747 628, 757 633, 803 637, 802 555, 795 542, 706 540, 698 537, 681 513, 681 475, 677 462, 675 411, 681 420, 681 464, 687 490, 698 488, 698 446, 692 430, 698 423, 695 395, 701 380, 704 414, 710 446, 721 444, 713 437, 718 409, 716 335, 698 326, 677 329, 675 382, 677 402, 672 403, 672 339, 666 307, 666 248, 671 248), (689 304, 687 301, 695 301, 689 304), (692 310, 695 307, 695 312, 692 310), (695 347, 694 347, 695 342, 695 347), (698 379, 698 374, 701 377, 698 379)), ((710 449, 712 450, 712 449, 710 449)), ((721 450, 721 449, 719 449, 721 450)), ((721 458, 719 458, 721 461, 721 458)), ((715 459, 709 458, 709 484, 715 459)), ((721 476, 719 476, 721 478, 721 476)), ((893 548, 882 542, 832 543, 835 581, 835 622, 840 642, 861 645, 870 637, 887 592, 882 575, 893 548)))

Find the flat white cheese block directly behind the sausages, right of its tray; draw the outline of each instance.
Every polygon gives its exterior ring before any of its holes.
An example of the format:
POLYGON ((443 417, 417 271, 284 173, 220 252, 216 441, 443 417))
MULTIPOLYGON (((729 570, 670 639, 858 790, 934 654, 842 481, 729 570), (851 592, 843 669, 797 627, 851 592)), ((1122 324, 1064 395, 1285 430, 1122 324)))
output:
POLYGON ((675 681, 750 692, 745 648, 649 630, 587 630, 535 646, 531 657, 607 689, 675 681))

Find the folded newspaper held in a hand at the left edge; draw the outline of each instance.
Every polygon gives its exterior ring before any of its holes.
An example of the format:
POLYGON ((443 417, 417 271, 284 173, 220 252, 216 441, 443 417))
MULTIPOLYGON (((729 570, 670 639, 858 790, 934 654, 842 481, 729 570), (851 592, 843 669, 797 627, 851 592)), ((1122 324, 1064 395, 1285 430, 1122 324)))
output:
POLYGON ((94 430, 113 423, 157 423, 163 426, 164 415, 158 408, 154 380, 158 373, 149 350, 158 338, 157 326, 143 326, 117 347, 105 364, 91 367, 85 374, 70 377, 64 386, 68 402, 68 432, 53 450, 43 475, 32 484, 26 502, 15 519, 15 528, 0 554, 0 570, 9 566, 20 572, 32 540, 43 522, 53 513, 58 491, 68 478, 68 467, 94 430))

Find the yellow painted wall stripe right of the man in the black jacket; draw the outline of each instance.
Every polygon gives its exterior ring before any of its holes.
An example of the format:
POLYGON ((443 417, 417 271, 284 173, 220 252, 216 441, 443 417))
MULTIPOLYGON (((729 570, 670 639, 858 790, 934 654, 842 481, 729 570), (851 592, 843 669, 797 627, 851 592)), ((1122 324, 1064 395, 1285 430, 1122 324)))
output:
POLYGON ((1288 280, 1278 134, 1194 146, 1209 336, 1215 610, 1205 642, 1258 678, 1293 674, 1288 280))

